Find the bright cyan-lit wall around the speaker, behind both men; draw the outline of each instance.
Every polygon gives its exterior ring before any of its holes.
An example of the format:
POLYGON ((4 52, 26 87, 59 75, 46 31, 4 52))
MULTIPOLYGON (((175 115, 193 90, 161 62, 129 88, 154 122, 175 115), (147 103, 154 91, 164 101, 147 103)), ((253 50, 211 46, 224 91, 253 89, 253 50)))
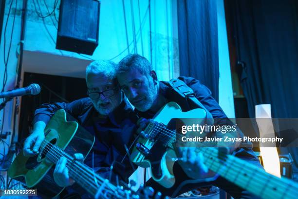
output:
MULTIPOLYGON (((47 0, 46 2, 49 10, 52 11, 54 0, 47 0)), ((42 15, 46 15, 48 11, 43 1, 40 1, 40 7, 42 15)), ((127 35, 122 0, 101 1, 99 45, 93 56, 82 57, 76 53, 55 49, 57 21, 54 17, 52 20, 47 17, 44 21, 42 18, 39 18, 35 11, 34 3, 30 0, 28 2, 25 50, 83 60, 88 60, 88 58, 109 59, 115 62, 121 60, 128 53, 138 53, 145 56, 148 60, 152 60, 153 68, 157 71, 161 80, 177 77, 179 74, 179 55, 176 0, 124 0, 124 7, 127 35), (149 25, 149 13, 151 16, 151 28, 149 25), (133 37, 134 33, 135 39, 133 37)), ((40 11, 38 5, 37 11, 40 11)), ((56 16, 58 14, 59 11, 56 9, 56 16)), ((42 73, 42 68, 49 67, 51 60, 47 60, 45 64, 46 66, 28 67, 28 69, 30 68, 29 72, 35 70, 35 72, 42 73)), ((25 63, 25 70, 27 70, 27 65, 34 65, 34 59, 31 60, 31 63, 25 63)), ((81 70, 81 76, 83 76, 85 67, 85 65, 80 65, 75 70, 81 70)), ((72 73, 72 67, 69 67, 69 70, 72 73)))

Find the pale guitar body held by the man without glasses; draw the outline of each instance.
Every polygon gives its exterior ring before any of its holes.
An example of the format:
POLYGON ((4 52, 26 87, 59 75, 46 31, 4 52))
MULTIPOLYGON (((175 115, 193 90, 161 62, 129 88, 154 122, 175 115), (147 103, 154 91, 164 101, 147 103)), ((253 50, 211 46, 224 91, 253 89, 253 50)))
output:
MULTIPOLYGON (((213 119, 206 118, 204 109, 197 108, 182 112, 177 103, 169 102, 156 113, 153 121, 149 122, 135 141, 136 144, 130 154, 131 161, 138 166, 150 167, 152 179, 165 188, 177 187, 182 182, 181 180, 176 181, 174 175, 174 164, 178 157, 174 150, 176 134, 171 130, 176 128, 173 120, 176 118, 186 125, 192 125, 189 120, 191 118, 196 119, 195 122, 198 124, 213 122, 213 119)), ((197 182, 212 181, 217 177, 216 174, 210 176, 212 177, 202 179, 202 181, 197 180, 197 182)), ((184 180, 186 179, 189 178, 184 178, 184 180)))

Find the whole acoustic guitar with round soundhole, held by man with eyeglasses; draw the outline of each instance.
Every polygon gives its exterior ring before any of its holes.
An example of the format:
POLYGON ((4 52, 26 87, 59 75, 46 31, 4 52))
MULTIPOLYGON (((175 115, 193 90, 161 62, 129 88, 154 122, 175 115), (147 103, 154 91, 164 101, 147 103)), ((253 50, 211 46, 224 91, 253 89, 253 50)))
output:
POLYGON ((94 137, 64 110, 58 110, 45 128, 45 139, 35 157, 23 153, 14 159, 8 170, 10 178, 19 180, 29 188, 37 188, 38 196, 53 198, 62 192, 53 179, 54 164, 61 158, 68 159, 69 175, 91 196, 96 198, 139 199, 146 195, 113 185, 108 179, 97 175, 93 169, 75 160, 73 155, 81 153, 84 159, 90 152, 94 137))

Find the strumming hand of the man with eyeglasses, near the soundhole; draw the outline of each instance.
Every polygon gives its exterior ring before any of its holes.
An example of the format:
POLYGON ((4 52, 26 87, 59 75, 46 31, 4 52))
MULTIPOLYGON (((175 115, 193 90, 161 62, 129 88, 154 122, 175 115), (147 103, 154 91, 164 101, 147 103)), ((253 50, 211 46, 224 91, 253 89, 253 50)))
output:
POLYGON ((24 156, 35 156, 38 153, 41 142, 44 140, 44 128, 46 124, 43 121, 37 121, 34 124, 32 134, 25 140, 23 147, 24 156))

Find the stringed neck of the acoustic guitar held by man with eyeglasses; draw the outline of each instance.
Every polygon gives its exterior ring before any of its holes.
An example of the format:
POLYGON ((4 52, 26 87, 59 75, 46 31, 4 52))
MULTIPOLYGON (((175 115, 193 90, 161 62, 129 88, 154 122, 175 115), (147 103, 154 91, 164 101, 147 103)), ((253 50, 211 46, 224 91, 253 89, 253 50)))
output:
MULTIPOLYGON (((48 142, 42 144, 46 145, 48 142)), ((61 157, 67 159, 66 167, 69 170, 69 176, 93 197, 95 197, 97 192, 100 192, 101 198, 127 198, 125 191, 114 186, 108 179, 103 179, 92 168, 75 160, 62 149, 52 145, 47 150, 46 158, 51 162, 56 164, 61 157)))

